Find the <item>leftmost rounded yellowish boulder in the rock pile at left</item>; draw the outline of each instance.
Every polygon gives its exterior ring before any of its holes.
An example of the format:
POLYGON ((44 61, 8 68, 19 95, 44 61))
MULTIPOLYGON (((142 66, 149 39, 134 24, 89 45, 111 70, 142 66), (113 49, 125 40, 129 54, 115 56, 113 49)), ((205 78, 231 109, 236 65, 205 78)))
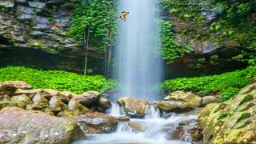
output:
POLYGON ((31 99, 28 96, 26 96, 26 94, 14 96, 10 98, 10 102, 15 102, 17 103, 18 107, 22 107, 22 108, 25 108, 26 105, 32 103, 31 99))

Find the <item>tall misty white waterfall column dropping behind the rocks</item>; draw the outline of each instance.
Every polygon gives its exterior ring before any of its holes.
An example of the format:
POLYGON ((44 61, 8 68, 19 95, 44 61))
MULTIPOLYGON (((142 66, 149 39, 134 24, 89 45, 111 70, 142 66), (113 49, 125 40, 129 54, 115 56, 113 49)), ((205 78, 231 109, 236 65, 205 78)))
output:
POLYGON ((161 82, 162 58, 158 38, 158 9, 154 0, 121 0, 116 66, 120 94, 156 100, 161 82))

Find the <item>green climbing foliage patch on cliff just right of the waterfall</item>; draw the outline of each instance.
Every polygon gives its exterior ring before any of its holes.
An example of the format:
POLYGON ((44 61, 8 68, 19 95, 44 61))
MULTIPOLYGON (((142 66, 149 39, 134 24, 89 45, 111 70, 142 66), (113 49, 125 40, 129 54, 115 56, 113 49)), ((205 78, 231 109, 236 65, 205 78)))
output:
POLYGON ((187 50, 189 50, 188 46, 178 46, 178 42, 174 38, 173 26, 174 22, 159 20, 160 26, 160 39, 162 45, 162 58, 167 62, 173 62, 175 58, 179 58, 185 54, 187 50))

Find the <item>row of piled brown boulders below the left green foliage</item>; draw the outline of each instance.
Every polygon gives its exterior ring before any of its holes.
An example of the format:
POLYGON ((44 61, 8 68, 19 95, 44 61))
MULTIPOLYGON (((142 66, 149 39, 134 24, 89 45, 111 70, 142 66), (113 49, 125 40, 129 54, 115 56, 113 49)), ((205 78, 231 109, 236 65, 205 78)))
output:
POLYGON ((73 94, 68 91, 32 89, 26 82, 0 83, 0 110, 18 106, 26 110, 42 110, 50 115, 74 116, 93 110, 106 110, 111 103, 97 91, 73 94))

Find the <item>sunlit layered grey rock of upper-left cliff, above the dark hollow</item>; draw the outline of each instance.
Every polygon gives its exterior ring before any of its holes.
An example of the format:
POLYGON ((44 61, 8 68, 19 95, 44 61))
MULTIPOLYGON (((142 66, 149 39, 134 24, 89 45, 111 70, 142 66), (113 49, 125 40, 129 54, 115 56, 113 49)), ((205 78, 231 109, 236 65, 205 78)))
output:
POLYGON ((0 2, 2 46, 37 47, 47 51, 78 50, 80 45, 65 33, 70 10, 62 1, 3 0, 0 2))

